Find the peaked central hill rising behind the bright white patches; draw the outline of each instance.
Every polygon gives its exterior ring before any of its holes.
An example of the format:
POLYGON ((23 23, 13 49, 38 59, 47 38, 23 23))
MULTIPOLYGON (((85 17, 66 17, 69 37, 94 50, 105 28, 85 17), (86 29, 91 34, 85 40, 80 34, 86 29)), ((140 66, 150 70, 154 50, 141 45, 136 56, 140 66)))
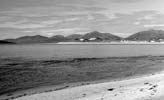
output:
POLYGON ((90 33, 85 34, 82 38, 84 39, 90 39, 90 38, 97 38, 100 41, 116 41, 116 40, 121 40, 121 37, 110 34, 110 33, 100 33, 98 31, 93 31, 90 33))

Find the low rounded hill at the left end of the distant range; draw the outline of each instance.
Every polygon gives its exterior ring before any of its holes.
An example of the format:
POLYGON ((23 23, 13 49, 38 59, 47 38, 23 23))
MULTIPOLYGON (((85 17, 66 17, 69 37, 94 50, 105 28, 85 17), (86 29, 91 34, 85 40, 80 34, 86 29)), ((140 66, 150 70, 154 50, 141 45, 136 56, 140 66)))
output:
POLYGON ((6 39, 6 41, 15 42, 15 43, 43 43, 47 39, 48 37, 35 35, 35 36, 23 36, 16 39, 6 39))

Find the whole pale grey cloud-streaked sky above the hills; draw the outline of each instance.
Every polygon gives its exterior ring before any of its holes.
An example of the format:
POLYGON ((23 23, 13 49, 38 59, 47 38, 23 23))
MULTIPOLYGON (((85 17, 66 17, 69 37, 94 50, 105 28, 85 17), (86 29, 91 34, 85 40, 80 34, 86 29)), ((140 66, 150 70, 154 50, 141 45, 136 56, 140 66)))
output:
POLYGON ((0 0, 0 39, 164 30, 164 0, 0 0))

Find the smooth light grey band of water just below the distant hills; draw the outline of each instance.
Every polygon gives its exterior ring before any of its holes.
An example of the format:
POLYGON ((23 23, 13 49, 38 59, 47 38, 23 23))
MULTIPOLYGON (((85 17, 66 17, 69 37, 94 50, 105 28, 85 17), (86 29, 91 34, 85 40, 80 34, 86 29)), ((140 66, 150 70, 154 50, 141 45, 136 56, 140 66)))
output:
POLYGON ((0 57, 80 58, 164 55, 164 45, 0 45, 0 57))

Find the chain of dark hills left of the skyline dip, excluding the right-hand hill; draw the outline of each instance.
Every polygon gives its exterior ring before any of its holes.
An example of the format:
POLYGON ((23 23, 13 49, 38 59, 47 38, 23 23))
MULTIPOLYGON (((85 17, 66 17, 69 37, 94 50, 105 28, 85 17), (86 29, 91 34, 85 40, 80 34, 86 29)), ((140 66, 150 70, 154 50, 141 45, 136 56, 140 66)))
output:
POLYGON ((72 34, 66 37, 64 37, 63 35, 55 35, 49 38, 41 35, 35 35, 35 36, 23 36, 16 39, 5 39, 4 41, 15 42, 15 43, 57 43, 57 42, 72 42, 72 41, 76 42, 76 41, 80 41, 80 39, 93 41, 90 40, 91 38, 95 38, 94 41, 96 42, 121 40, 120 37, 112 35, 110 33, 100 33, 94 31, 84 35, 72 34))

